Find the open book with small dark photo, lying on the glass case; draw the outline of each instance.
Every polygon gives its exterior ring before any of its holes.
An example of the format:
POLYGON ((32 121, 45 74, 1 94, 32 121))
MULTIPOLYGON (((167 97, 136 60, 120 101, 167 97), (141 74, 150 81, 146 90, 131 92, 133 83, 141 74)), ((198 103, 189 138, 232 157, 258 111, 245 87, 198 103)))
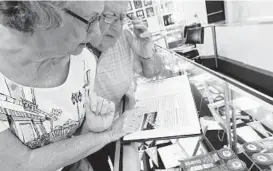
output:
POLYGON ((179 138, 199 135, 200 124, 187 75, 138 85, 136 107, 146 107, 137 132, 123 141, 179 138))

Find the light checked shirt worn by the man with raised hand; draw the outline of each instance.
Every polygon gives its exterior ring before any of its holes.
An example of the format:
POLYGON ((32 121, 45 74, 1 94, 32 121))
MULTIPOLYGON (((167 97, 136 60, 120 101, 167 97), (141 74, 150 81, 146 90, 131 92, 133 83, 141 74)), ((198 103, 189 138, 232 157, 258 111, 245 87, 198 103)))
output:
POLYGON ((119 111, 121 99, 133 78, 133 52, 124 34, 117 43, 102 52, 97 62, 94 91, 98 96, 113 101, 119 111))

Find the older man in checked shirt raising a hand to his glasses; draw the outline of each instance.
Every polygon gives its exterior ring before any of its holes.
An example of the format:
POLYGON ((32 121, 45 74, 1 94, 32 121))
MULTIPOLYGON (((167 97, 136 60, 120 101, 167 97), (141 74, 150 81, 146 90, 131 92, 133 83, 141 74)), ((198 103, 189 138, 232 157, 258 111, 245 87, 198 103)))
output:
MULTIPOLYGON (((88 46, 98 61, 94 90, 101 97, 113 101, 116 109, 121 106, 121 99, 125 94, 130 96, 133 68, 145 77, 154 77, 162 69, 162 63, 153 50, 154 44, 147 26, 133 17, 134 33, 125 27, 127 7, 128 1, 105 1, 102 16, 106 20, 100 21, 102 38, 92 39, 88 46)), ((139 170, 138 166, 133 167, 139 162, 133 161, 135 155, 131 153, 134 151, 131 147, 124 146, 124 159, 131 161, 123 162, 123 170, 139 170)), ((110 171, 108 156, 113 161, 114 150, 115 144, 108 144, 88 156, 88 160, 95 170, 110 171)))

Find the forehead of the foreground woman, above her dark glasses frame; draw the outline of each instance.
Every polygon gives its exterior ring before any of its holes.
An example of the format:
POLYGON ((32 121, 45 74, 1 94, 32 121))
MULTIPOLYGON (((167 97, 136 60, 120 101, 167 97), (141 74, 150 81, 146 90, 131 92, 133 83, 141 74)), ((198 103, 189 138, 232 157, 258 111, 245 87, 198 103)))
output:
POLYGON ((94 13, 102 13, 104 1, 68 1, 67 7, 82 17, 90 17, 94 13))

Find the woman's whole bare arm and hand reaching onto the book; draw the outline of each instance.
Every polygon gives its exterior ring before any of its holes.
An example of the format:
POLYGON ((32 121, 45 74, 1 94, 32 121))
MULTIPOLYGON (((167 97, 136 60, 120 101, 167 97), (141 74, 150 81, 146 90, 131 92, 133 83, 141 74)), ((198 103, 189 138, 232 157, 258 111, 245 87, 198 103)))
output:
POLYGON ((10 130, 0 133, 1 170, 56 171, 98 151, 106 144, 138 130, 146 109, 126 111, 101 133, 86 133, 34 150, 23 145, 10 130))

